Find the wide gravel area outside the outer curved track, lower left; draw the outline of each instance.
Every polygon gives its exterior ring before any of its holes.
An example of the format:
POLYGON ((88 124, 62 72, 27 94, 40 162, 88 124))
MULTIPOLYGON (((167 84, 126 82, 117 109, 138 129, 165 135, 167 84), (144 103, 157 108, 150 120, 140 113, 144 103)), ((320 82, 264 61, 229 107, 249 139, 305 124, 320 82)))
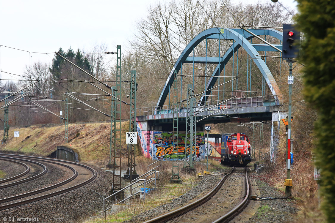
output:
POLYGON ((92 165, 88 166, 98 173, 90 184, 52 198, 0 211, 0 216, 38 217, 40 222, 53 223, 75 222, 101 213, 102 199, 108 196, 111 189, 112 174, 92 165))

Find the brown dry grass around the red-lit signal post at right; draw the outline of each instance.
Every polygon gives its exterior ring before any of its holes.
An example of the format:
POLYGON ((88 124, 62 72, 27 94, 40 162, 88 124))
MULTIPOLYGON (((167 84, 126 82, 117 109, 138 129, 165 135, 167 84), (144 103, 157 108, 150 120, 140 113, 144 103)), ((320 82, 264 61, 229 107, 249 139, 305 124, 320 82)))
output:
MULTIPOLYGON (((281 143, 275 165, 265 160, 269 168, 260 178, 282 191, 284 194, 284 179, 287 178, 286 148, 281 143)), ((294 163, 291 165, 290 178, 293 181, 292 197, 295 199, 299 212, 297 223, 323 222, 325 217, 319 207, 318 185, 314 180, 314 164, 310 152, 300 150, 294 152, 294 163)))

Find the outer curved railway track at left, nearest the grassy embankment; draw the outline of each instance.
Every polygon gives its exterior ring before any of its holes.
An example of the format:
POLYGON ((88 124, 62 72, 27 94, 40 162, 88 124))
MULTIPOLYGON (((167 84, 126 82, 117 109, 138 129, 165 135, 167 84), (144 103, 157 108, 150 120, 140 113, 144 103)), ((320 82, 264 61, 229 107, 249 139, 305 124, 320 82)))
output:
POLYGON ((92 168, 80 163, 25 155, 12 155, 3 153, 0 153, 0 155, 6 159, 26 159, 34 162, 47 162, 55 165, 61 165, 70 169, 73 173, 72 176, 70 176, 68 179, 49 187, 0 199, 0 210, 32 203, 69 192, 92 182, 97 176, 96 172, 92 168))

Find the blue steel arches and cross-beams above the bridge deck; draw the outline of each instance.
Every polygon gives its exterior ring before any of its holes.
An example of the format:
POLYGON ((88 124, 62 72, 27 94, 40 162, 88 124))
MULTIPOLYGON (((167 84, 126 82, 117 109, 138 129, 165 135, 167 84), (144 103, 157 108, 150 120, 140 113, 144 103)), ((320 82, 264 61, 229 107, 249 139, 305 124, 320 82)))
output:
MULTIPOLYGON (((282 32, 279 32, 274 29, 249 29, 256 35, 268 35, 273 36, 279 40, 282 40, 282 32)), ((173 81, 176 78, 177 73, 182 68, 184 63, 202 63, 202 64, 217 64, 211 76, 209 76, 209 80, 206 83, 205 93, 201 96, 200 102, 207 101, 211 88, 213 88, 216 83, 218 76, 221 71, 224 69, 224 66, 231 59, 232 55, 242 47, 250 56, 253 58, 254 63, 262 73, 267 86, 269 87, 274 99, 275 104, 282 104, 282 94, 280 89, 271 74, 269 68, 266 63, 262 60, 261 57, 256 58, 258 55, 258 51, 276 51, 274 48, 267 44, 252 44, 249 42, 255 36, 245 32, 242 29, 229 29, 229 28, 210 28, 199 33, 194 39, 190 41, 190 43, 185 47, 181 55, 179 56, 177 62, 170 75, 167 77, 167 80, 164 84, 162 92, 159 96, 159 99, 156 104, 155 110, 160 110, 165 103, 166 97, 170 92, 170 88, 173 85, 173 81), (189 54, 194 50, 201 41, 205 39, 218 39, 218 40, 233 40, 233 44, 229 47, 229 49, 224 53, 223 57, 189 57, 189 54), (177 73, 175 73, 175 70, 177 73)), ((281 49, 282 45, 275 45, 277 48, 281 49)))

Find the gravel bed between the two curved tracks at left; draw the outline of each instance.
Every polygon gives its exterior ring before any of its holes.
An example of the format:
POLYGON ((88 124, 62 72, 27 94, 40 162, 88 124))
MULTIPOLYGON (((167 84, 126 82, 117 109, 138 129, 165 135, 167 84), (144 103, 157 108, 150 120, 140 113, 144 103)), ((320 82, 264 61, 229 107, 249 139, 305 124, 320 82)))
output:
MULTIPOLYGON (((1 189, 0 199, 45 188, 53 184, 57 184, 61 181, 64 181, 67 178, 69 178, 70 175, 71 176, 73 175, 73 172, 72 171, 70 172, 70 170, 64 166, 55 165, 42 161, 38 162, 43 163, 48 168, 48 172, 45 175, 23 184, 1 189)), ((29 164, 28 162, 25 163, 29 166, 34 165, 34 174, 30 175, 29 177, 41 173, 42 167, 31 163, 29 164)))

